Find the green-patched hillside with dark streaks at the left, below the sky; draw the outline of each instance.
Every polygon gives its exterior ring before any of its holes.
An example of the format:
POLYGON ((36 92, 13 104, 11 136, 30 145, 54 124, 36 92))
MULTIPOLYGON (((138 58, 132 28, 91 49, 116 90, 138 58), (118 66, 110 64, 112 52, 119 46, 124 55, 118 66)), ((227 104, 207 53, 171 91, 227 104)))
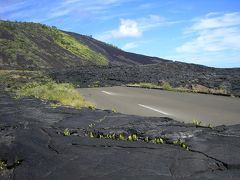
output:
POLYGON ((0 67, 107 65, 108 59, 55 27, 0 21, 0 67))

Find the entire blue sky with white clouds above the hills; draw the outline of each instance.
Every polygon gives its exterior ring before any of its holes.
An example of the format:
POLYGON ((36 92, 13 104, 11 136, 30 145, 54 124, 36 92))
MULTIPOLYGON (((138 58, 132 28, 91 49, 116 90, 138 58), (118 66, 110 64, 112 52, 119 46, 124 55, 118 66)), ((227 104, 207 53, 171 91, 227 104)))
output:
POLYGON ((135 53, 240 67, 239 0, 0 0, 0 19, 92 35, 135 53))

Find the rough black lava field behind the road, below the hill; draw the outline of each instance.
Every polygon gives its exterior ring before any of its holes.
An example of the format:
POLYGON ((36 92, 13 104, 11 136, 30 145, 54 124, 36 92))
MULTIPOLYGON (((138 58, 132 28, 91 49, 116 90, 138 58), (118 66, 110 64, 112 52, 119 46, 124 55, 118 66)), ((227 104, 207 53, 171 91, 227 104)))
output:
POLYGON ((169 82, 173 87, 194 84, 208 88, 223 85, 228 94, 240 96, 240 68, 218 69, 195 64, 173 61, 152 65, 79 67, 66 70, 51 70, 49 75, 60 82, 72 82, 80 87, 120 86, 128 83, 161 81, 169 82))

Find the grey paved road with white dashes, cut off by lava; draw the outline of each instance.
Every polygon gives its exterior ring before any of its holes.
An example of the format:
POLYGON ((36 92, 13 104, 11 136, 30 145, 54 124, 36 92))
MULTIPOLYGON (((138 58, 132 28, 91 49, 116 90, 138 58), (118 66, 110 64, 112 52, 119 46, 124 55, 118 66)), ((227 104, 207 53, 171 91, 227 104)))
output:
POLYGON ((81 88, 80 93, 99 109, 124 114, 193 119, 212 125, 240 124, 240 98, 168 92, 131 87, 81 88))

